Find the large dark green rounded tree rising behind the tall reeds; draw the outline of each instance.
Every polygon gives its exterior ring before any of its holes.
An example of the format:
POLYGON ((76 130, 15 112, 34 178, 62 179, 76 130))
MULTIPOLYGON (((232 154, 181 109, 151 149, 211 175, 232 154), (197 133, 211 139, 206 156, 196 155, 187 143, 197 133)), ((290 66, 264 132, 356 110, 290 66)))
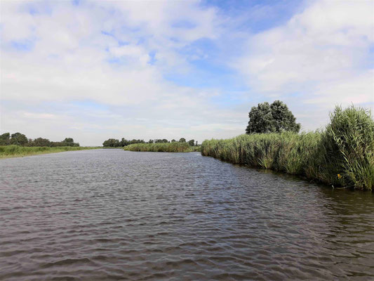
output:
POLYGON ((280 133, 282 131, 300 131, 300 123, 288 110, 285 103, 275 100, 274 103, 259 103, 252 107, 248 114, 249 122, 246 133, 280 133))

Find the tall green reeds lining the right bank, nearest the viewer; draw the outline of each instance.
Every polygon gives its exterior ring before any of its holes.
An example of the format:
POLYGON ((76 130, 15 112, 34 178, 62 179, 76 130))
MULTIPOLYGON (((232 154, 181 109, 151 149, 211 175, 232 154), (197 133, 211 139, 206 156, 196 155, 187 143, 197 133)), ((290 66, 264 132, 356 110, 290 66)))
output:
POLYGON ((353 105, 335 107, 324 131, 212 139, 203 141, 201 154, 328 185, 374 190, 374 121, 369 110, 353 105))

